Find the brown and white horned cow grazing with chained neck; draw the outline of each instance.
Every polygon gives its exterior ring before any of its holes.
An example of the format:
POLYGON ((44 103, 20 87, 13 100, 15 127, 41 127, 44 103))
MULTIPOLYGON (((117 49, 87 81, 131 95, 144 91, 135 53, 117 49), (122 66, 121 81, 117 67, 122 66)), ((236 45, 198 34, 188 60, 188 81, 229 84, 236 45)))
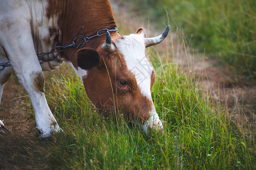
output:
MULTIPOLYGON (((11 66, 0 71, 0 97, 15 73, 30 97, 40 138, 50 137, 61 128, 44 95, 43 71, 67 62, 98 111, 122 109, 128 118, 138 118, 146 133, 162 133, 151 97, 155 70, 145 48, 162 42, 170 27, 151 38, 144 28, 128 36, 116 28, 108 0, 2 0, 0 63, 11 66), (55 59, 40 65, 39 53, 55 59)), ((0 128, 5 128, 2 121, 0 128)))

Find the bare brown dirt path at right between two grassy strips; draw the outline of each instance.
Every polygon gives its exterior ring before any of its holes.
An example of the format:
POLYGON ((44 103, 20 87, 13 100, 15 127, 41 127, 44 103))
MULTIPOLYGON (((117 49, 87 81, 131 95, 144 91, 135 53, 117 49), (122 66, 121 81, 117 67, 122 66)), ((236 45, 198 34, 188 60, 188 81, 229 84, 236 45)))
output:
POLYGON ((221 104, 238 127, 255 138, 256 121, 256 84, 246 81, 241 75, 228 67, 220 66, 218 61, 196 57, 193 63, 193 73, 198 78, 199 85, 204 87, 216 105, 221 104))

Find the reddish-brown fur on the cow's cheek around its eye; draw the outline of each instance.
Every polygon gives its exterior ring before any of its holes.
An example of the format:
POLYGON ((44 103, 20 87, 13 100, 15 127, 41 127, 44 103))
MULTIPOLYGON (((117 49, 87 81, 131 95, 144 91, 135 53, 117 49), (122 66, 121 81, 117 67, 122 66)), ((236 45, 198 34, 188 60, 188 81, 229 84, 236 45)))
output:
POLYGON ((94 67, 88 70, 84 78, 90 100, 98 109, 112 110, 115 106, 117 110, 122 109, 127 117, 146 121, 153 103, 142 96, 135 76, 127 69, 123 56, 109 54, 105 58, 108 58, 105 60, 105 68, 94 67), (119 86, 119 80, 125 80, 127 85, 119 86))

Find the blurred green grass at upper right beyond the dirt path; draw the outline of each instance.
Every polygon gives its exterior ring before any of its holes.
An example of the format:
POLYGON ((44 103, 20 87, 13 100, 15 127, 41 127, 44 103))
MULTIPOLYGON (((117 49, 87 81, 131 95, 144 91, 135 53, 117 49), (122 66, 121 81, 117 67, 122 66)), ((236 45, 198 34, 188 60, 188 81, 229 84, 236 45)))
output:
POLYGON ((127 0, 151 23, 183 29, 190 45, 247 79, 256 78, 256 3, 254 0, 127 0), (142 8, 143 6, 143 8, 142 8))

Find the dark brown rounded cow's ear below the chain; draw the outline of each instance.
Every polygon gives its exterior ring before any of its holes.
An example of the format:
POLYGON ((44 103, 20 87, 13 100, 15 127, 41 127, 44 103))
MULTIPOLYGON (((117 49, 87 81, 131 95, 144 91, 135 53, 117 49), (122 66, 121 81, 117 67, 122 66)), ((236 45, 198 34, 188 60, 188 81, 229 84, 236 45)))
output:
POLYGON ((76 56, 81 69, 92 69, 100 63, 100 54, 92 48, 82 48, 77 51, 76 56))

